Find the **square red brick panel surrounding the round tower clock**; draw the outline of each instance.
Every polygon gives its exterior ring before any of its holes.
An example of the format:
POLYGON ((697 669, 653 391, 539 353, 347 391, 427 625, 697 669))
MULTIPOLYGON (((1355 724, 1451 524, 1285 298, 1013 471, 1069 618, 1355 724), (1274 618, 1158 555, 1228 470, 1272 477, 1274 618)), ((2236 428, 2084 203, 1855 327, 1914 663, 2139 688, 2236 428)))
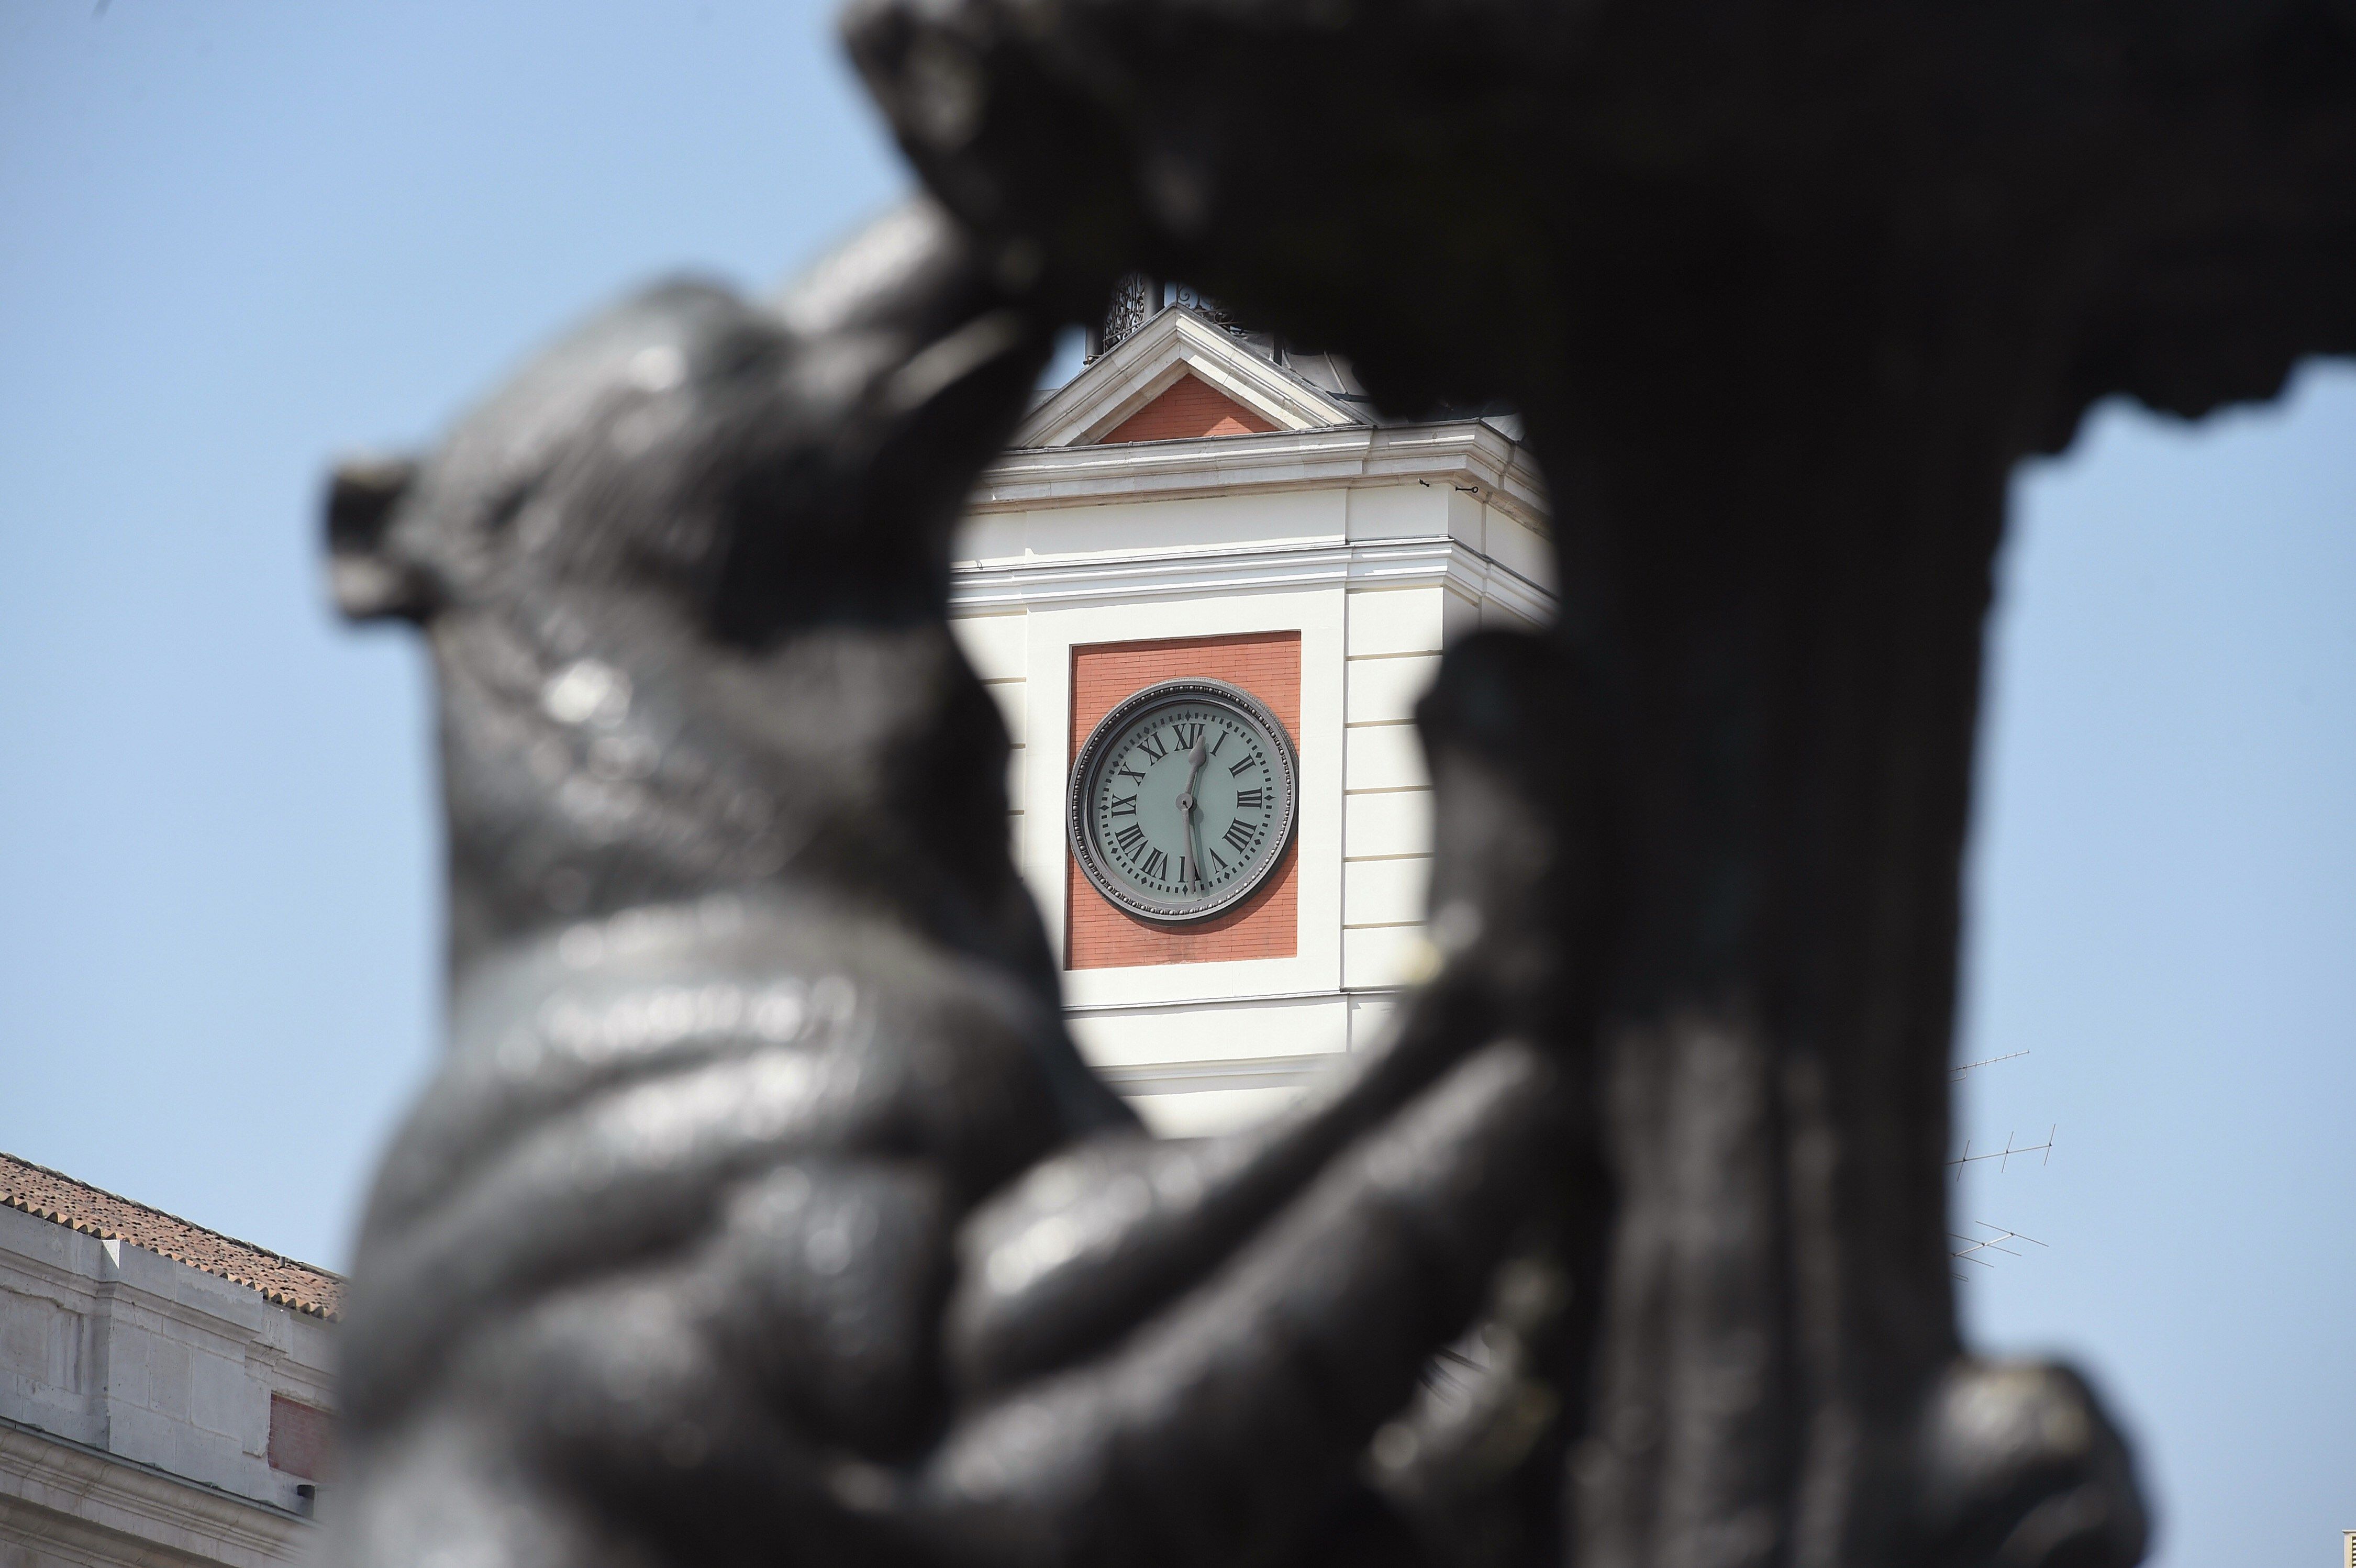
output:
MULTIPOLYGON (((1072 650, 1072 742, 1065 768, 1088 730, 1117 702, 1157 680, 1225 680, 1277 716, 1301 744, 1301 633, 1253 631, 1230 638, 1159 638, 1093 643, 1072 650)), ((1296 831, 1298 838, 1298 831, 1296 831)), ((1220 958, 1291 958, 1301 951, 1301 869, 1286 845, 1275 873, 1242 904, 1209 921, 1159 925, 1119 909, 1081 873, 1065 848, 1063 968, 1110 970, 1136 963, 1213 963, 1220 958)))

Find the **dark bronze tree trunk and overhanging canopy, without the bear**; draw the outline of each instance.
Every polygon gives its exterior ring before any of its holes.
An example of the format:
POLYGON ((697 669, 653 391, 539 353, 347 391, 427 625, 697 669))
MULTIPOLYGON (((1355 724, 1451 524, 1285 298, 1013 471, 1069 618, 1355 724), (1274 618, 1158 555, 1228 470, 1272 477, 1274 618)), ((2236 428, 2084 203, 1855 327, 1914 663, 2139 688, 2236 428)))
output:
POLYGON ((2092 1396, 1965 1356, 1941 1264, 1981 626, 2010 469, 2090 400, 2356 348, 2347 9, 860 0, 851 42, 987 245, 1524 419, 1616 866, 1571 1556, 2135 1561, 2092 1396))

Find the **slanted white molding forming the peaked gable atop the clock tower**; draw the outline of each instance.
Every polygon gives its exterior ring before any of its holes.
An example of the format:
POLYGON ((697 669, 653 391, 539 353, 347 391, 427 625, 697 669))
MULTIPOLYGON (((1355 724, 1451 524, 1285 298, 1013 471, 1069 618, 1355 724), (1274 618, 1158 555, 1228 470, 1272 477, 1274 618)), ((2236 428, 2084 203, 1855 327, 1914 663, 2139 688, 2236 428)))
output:
MULTIPOLYGON (((1310 386, 1282 365, 1263 360, 1194 311, 1173 306, 1124 337, 1112 353, 1081 370, 1063 391, 1032 410, 1015 431, 1015 445, 1058 450, 1103 440, 1107 431, 1166 393, 1183 374, 1199 377, 1279 431, 1364 424, 1364 417, 1348 403, 1310 386)), ((1129 452, 1133 445, 1117 450, 1129 452)))

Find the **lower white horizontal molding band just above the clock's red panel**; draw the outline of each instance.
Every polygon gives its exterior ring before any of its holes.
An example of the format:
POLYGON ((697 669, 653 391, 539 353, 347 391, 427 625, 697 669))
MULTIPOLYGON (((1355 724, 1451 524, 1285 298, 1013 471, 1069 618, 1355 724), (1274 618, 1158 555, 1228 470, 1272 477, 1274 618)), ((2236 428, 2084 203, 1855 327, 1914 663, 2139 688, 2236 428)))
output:
POLYGON ((949 567, 952 612, 1006 612, 1124 598, 1272 593, 1298 589, 1449 586, 1472 603, 1498 603, 1527 622, 1555 617, 1555 596, 1463 539, 1336 539, 1331 544, 1246 544, 1218 549, 1121 551, 1032 560, 961 560, 949 567))

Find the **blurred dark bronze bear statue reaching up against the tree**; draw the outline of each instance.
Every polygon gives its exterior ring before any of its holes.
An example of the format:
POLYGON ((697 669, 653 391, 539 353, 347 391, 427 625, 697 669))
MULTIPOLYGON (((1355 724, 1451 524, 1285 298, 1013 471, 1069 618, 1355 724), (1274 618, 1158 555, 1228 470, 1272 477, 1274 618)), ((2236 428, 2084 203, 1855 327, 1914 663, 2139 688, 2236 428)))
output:
POLYGON ((1569 1373, 1513 1326, 1579 1309, 1548 954, 1595 878, 1550 873, 1576 770, 1515 723, 1550 645, 1461 650, 1428 706, 1475 810, 1392 1045, 1270 1128, 1143 1135, 1065 1034, 945 622, 1053 330, 1004 273, 916 202, 775 304, 646 290, 337 473, 332 589, 431 645, 450 833, 342 1568, 1381 1563, 1449 1453, 1553 1493, 1522 1417, 1569 1373), (1472 1403, 1522 1417, 1451 1448, 1418 1375, 1484 1309, 1472 1403))

